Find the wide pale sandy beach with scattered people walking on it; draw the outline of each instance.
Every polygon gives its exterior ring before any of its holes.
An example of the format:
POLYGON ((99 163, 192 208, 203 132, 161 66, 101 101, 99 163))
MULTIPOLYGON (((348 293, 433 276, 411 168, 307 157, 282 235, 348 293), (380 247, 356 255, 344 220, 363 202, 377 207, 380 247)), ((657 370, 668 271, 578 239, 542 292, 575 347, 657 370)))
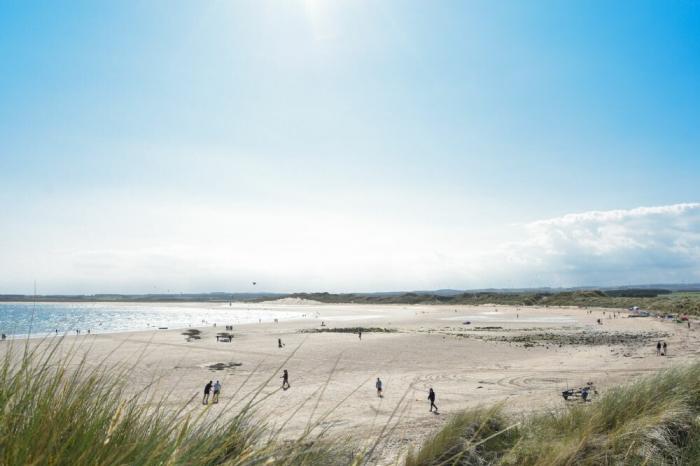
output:
POLYGON ((604 392, 700 354, 700 323, 688 329, 626 311, 613 318, 611 309, 286 302, 250 304, 251 311, 256 306, 301 317, 235 325, 230 343, 216 335, 232 322, 216 322, 189 341, 183 330, 157 330, 69 336, 63 347, 77 344, 91 364, 133 363, 133 390, 155 383, 173 408, 205 409, 209 380, 223 390, 208 416, 229 416, 257 394, 256 415, 283 437, 300 435, 310 422, 360 443, 384 429, 379 463, 418 445, 460 409, 500 401, 516 413, 562 409, 566 388, 593 382, 604 392), (360 326, 387 331, 361 339, 332 331, 360 326), (656 355, 658 340, 667 342, 667 356, 656 355), (280 389, 282 368, 288 390, 280 389), (428 411, 431 387, 439 415, 428 411))

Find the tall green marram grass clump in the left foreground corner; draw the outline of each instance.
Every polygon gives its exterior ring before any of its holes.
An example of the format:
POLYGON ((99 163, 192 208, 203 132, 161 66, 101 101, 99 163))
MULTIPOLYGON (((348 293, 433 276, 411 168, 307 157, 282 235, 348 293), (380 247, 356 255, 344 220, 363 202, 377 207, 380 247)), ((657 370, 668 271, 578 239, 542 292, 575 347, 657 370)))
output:
MULTIPOLYGON (((21 346, 21 345, 20 345, 21 346)), ((90 366, 58 343, 6 348, 0 362, 0 464, 359 464, 347 447, 309 433, 281 441, 252 419, 255 399, 233 418, 208 420, 199 393, 173 408, 148 391, 128 392, 129 368, 90 366), (14 354, 13 354, 14 353, 14 354)), ((310 426, 312 427, 312 426, 310 426)))

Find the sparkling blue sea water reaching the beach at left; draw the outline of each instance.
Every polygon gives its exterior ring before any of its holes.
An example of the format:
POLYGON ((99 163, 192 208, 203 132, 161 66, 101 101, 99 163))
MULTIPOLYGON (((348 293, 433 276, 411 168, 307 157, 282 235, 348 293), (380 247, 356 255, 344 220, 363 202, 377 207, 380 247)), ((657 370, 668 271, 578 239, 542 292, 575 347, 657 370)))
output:
POLYGON ((264 303, 0 303, 0 333, 8 338, 237 325, 307 316, 264 303))

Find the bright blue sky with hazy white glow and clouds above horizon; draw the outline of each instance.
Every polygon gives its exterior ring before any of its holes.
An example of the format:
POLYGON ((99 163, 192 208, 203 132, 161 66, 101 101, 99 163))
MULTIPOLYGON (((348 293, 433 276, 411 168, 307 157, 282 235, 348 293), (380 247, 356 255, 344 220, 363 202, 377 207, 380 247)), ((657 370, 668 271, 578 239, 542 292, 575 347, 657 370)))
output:
POLYGON ((699 83, 698 0, 0 0, 0 293, 698 283, 699 83))

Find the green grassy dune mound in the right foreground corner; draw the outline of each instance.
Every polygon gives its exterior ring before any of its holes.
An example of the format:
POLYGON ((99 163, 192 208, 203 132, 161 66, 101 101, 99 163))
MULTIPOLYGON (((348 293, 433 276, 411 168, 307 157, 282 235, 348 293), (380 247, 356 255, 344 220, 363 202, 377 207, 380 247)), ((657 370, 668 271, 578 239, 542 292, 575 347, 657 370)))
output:
POLYGON ((613 388, 592 403, 509 419, 453 417, 406 465, 700 464, 700 363, 613 388))

